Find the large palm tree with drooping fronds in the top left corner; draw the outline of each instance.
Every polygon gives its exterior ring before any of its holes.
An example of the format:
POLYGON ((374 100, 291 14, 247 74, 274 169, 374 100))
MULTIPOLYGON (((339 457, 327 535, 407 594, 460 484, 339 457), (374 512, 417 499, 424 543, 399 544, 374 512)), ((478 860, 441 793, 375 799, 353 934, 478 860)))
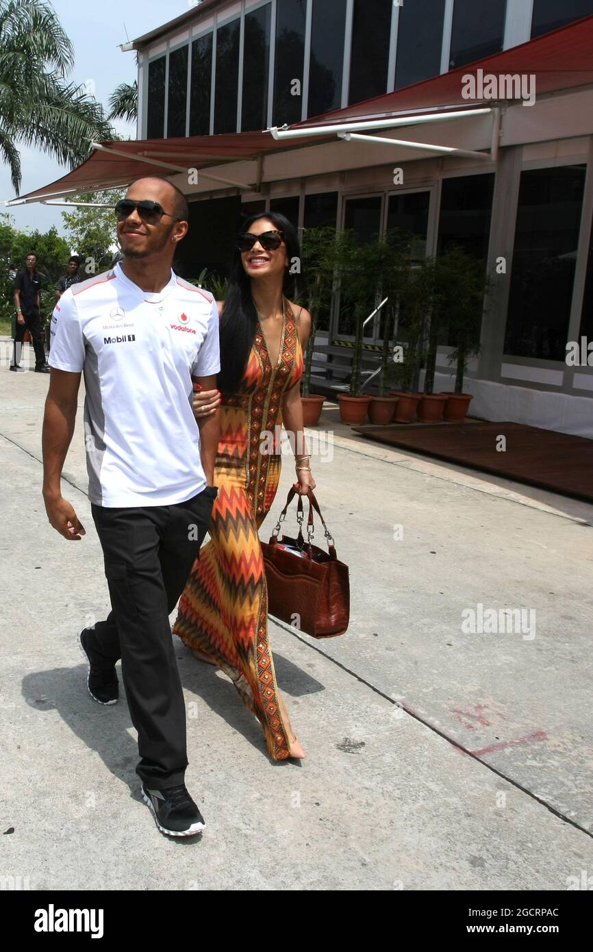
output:
POLYGON ((89 157, 90 141, 114 138, 101 104, 68 81, 73 63, 69 37, 49 3, 0 0, 0 158, 17 193, 16 143, 73 167, 89 157))

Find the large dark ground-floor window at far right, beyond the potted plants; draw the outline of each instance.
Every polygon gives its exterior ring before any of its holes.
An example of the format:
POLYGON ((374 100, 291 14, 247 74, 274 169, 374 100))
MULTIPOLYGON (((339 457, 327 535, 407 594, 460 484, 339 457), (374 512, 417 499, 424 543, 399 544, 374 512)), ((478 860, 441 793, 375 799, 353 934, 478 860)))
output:
POLYGON ((521 176, 504 352, 563 361, 574 285, 585 166, 521 176))

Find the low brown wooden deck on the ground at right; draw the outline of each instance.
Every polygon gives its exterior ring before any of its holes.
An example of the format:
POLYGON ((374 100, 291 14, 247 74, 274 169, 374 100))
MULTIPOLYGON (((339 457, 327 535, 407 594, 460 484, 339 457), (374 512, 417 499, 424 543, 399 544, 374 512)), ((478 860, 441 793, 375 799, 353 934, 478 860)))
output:
POLYGON ((353 426, 390 446, 593 503, 593 440, 519 423, 353 426), (497 450, 504 436, 504 452, 497 450))

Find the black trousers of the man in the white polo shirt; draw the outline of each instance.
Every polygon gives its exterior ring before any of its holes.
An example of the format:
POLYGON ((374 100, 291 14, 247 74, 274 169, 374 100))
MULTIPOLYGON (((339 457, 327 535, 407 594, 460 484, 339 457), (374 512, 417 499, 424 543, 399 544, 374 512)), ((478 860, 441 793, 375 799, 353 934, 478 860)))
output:
POLYGON ((199 556, 217 494, 215 486, 207 486, 173 506, 90 507, 111 611, 89 629, 89 645, 102 668, 121 658, 129 714, 138 731, 136 773, 161 788, 183 783, 188 766, 186 709, 168 615, 199 556))

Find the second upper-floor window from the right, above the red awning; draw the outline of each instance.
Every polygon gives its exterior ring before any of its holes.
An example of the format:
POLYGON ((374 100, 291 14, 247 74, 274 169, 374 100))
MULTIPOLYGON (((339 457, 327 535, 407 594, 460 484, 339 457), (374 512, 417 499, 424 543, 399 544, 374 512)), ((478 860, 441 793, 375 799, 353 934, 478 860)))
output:
POLYGON ((506 0, 455 0, 449 68, 503 49, 506 0))

